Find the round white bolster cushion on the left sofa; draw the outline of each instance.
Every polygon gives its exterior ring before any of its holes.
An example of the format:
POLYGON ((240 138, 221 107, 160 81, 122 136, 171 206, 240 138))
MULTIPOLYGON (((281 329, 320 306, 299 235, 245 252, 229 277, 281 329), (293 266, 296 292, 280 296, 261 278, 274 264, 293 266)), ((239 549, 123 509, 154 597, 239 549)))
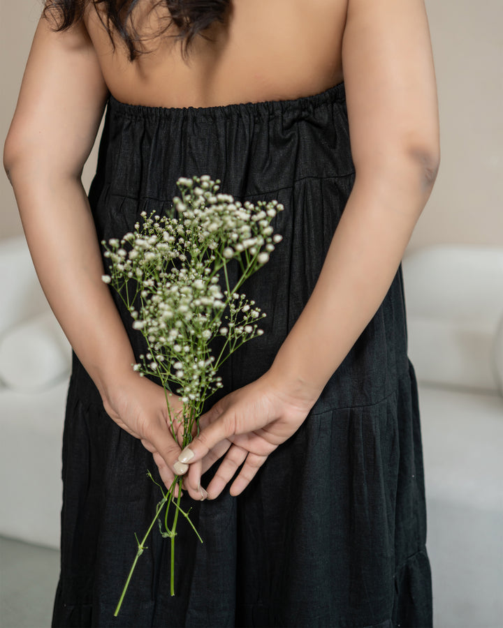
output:
POLYGON ((67 377, 70 368, 70 345, 52 312, 0 336, 0 380, 10 389, 37 393, 67 377))

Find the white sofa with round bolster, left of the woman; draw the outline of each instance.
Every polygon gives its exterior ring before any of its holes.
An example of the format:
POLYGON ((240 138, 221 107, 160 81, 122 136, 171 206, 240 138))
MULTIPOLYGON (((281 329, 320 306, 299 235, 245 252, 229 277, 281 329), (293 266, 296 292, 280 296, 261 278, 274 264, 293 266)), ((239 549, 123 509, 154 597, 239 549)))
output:
POLYGON ((0 241, 0 534, 59 546, 71 349, 24 237, 0 241))

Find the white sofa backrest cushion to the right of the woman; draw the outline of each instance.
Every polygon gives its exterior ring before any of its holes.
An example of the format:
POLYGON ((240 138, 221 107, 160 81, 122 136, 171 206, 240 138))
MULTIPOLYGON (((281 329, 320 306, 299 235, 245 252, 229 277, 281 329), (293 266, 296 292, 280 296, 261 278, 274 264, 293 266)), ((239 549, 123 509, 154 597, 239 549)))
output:
POLYGON ((402 268, 409 357, 418 380, 497 391, 503 247, 432 246, 407 255, 402 268))

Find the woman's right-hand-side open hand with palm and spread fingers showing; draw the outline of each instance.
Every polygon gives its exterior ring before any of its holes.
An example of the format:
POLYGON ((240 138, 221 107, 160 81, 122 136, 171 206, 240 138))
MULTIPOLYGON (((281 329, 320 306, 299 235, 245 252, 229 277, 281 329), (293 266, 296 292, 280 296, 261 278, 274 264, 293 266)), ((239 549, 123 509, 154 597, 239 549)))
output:
POLYGON ((184 478, 189 495, 196 500, 216 498, 242 465, 230 491, 239 495, 268 455, 302 425, 316 398, 294 395, 268 371, 215 403, 201 416, 199 435, 178 458, 190 467, 184 478), (224 454, 204 491, 201 474, 224 454))

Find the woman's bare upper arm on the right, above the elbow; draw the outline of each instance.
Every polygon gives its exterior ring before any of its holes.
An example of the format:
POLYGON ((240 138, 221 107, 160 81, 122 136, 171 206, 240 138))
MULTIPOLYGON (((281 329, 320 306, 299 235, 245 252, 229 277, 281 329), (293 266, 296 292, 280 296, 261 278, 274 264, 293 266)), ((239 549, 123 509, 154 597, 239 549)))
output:
POLYGON ((356 172, 399 153, 435 171, 437 89, 423 0, 349 0, 342 63, 356 172))

